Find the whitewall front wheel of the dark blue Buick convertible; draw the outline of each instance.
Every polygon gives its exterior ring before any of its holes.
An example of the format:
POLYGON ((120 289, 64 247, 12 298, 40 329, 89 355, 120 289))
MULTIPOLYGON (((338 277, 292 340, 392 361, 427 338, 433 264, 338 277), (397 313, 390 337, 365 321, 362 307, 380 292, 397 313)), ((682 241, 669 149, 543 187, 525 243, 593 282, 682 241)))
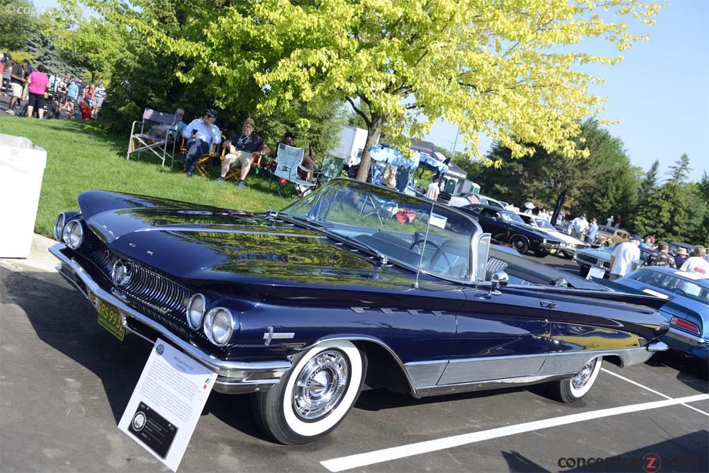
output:
POLYGON ((347 416, 367 372, 367 357, 347 340, 299 355, 281 382, 256 393, 252 407, 265 433, 285 445, 310 443, 347 416))

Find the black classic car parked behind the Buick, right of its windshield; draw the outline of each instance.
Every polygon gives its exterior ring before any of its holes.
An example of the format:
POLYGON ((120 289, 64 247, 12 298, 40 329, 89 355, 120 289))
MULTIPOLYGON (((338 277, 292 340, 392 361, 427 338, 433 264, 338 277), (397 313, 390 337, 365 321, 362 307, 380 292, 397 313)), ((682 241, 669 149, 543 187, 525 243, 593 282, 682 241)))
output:
POLYGON ((474 216, 493 240, 510 243, 521 254, 528 251, 544 257, 562 249, 562 241, 527 226, 517 213, 496 206, 471 204, 459 208, 474 216))

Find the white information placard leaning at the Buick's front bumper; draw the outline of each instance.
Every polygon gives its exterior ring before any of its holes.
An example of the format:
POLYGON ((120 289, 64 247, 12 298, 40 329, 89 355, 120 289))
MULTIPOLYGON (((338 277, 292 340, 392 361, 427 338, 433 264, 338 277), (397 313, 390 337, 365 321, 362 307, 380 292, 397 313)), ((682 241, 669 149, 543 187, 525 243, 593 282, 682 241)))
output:
POLYGON ((118 428, 177 471, 216 377, 158 338, 118 428))

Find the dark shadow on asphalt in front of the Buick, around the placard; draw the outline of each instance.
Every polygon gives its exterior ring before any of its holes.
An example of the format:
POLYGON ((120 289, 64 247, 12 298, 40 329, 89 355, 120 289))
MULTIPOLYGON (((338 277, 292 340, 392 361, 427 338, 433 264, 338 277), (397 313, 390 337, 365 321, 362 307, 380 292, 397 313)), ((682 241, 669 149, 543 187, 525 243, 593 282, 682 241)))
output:
MULTIPOLYGON (((128 334, 121 342, 108 333, 97 323, 96 311, 89 301, 57 273, 21 273, 0 267, 0 282, 4 285, 0 289, 4 289, 7 303, 16 304, 26 313, 43 343, 101 379, 118 425, 150 355, 150 345, 128 334)), ((9 320, 4 318, 3 322, 9 323, 9 320)), ((44 352, 35 353, 35 359, 48 362, 44 352)), ((50 360, 49 364, 61 365, 62 361, 50 360)), ((250 415, 248 396, 213 393, 202 415, 207 413, 247 435, 264 439, 250 415)))

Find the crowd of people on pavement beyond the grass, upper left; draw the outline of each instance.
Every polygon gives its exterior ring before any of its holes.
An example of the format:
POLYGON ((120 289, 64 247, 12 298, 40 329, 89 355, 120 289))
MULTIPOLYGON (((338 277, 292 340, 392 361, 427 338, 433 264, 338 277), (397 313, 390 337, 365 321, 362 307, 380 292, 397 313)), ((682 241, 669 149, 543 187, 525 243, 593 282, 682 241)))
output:
POLYGON ((96 119, 106 99, 106 87, 84 83, 80 77, 64 78, 43 65, 33 67, 30 60, 15 62, 11 52, 0 55, 0 94, 10 98, 5 113, 44 118, 96 119), (16 111, 21 107, 20 111, 16 111), (26 107, 26 110, 25 110, 26 107))

